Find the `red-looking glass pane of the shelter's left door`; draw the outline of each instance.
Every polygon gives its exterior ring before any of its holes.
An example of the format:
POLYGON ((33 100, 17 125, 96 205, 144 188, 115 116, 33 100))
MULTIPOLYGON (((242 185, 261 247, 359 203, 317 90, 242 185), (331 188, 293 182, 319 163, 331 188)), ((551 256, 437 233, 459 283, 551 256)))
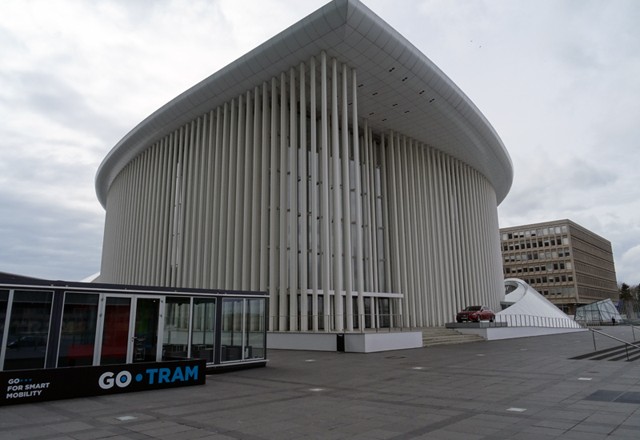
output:
POLYGON ((131 298, 106 298, 100 365, 126 363, 130 315, 131 298))

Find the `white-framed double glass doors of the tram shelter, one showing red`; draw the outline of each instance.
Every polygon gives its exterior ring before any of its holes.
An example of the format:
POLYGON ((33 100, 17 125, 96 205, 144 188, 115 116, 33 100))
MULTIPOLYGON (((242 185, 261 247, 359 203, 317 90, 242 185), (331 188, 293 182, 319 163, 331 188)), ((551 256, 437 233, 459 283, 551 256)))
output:
POLYGON ((94 365, 160 360, 163 309, 160 296, 102 295, 94 365))

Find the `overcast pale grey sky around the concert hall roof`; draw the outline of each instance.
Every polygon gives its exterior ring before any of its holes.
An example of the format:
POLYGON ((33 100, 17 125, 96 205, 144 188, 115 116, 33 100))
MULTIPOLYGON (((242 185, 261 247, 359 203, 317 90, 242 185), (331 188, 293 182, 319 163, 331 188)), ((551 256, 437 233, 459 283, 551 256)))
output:
MULTIPOLYGON (((324 0, 0 1, 0 271, 99 271, 94 178, 135 125, 324 0)), ((500 226, 568 218, 640 282, 640 1, 364 0, 511 155, 500 226)))

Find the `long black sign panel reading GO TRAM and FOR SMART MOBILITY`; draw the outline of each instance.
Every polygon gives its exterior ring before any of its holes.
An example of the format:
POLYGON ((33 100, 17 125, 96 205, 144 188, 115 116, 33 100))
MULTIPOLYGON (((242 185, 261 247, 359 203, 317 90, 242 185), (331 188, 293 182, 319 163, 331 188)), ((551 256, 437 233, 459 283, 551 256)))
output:
POLYGON ((0 405, 203 385, 204 359, 0 371, 0 405))

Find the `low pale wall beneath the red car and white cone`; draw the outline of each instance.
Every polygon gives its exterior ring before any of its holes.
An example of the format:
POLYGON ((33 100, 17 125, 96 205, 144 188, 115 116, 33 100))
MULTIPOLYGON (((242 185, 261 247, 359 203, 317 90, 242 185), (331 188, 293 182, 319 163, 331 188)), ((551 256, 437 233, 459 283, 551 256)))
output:
POLYGON ((584 328, 558 327, 508 327, 504 322, 465 322, 448 323, 447 328, 468 335, 478 335, 487 341, 498 339, 528 338, 531 336, 555 335, 561 333, 575 333, 586 331, 584 328))

